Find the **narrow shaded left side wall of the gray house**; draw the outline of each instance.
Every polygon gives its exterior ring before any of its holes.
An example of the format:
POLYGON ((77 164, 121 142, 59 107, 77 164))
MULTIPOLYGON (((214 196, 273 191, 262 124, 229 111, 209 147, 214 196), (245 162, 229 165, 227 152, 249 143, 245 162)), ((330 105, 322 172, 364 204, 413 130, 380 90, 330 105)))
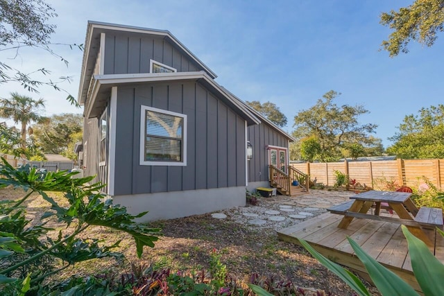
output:
MULTIPOLYGON (((83 123, 83 175, 95 176, 92 183, 108 182, 108 162, 99 166, 99 118, 85 119, 83 123)), ((105 187, 103 192, 108 192, 105 187)))

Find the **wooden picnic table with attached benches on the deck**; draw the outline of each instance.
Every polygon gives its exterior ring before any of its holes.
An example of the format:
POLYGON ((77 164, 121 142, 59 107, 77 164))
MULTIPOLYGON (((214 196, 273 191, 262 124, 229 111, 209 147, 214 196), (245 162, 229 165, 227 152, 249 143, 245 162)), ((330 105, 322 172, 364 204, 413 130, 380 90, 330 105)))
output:
POLYGON ((350 201, 331 207, 328 211, 343 215, 338 227, 346 229, 354 218, 387 221, 406 225, 409 231, 427 245, 434 243, 425 234, 425 229, 443 228, 443 211, 438 208, 421 207, 418 209, 411 200, 411 193, 393 191, 367 191, 352 196, 350 201), (398 217, 381 216, 382 204, 385 208, 393 209, 398 217), (368 214, 374 207, 374 214, 368 214))

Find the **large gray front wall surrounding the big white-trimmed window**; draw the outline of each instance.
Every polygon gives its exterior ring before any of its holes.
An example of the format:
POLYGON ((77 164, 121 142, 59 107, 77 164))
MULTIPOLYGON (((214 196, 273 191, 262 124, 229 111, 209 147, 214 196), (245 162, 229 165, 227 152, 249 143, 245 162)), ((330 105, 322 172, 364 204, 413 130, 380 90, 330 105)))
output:
POLYGON ((198 82, 119 86, 114 195, 245 188, 245 141, 244 119, 198 82), (187 114, 187 166, 139 165, 141 105, 187 114))

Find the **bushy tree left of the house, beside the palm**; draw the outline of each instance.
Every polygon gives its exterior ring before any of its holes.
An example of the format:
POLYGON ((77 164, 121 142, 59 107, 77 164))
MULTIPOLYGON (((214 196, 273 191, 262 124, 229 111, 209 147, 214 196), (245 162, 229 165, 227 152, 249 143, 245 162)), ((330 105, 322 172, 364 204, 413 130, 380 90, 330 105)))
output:
POLYGON ((69 151, 73 141, 80 141, 83 130, 83 116, 81 114, 56 114, 40 123, 33 125, 33 143, 42 149, 43 153, 61 154, 75 158, 74 152, 69 151), (73 138, 73 135, 76 135, 73 138))

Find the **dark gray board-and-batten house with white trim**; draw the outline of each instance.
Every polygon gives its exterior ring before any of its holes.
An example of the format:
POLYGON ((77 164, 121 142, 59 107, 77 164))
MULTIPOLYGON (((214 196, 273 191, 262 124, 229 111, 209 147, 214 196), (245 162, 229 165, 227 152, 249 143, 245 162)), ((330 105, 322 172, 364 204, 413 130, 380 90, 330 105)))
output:
POLYGON ((268 186, 270 162, 288 164, 292 138, 214 78, 169 31, 89 21, 85 175, 144 220, 244 206, 246 187, 268 186))

